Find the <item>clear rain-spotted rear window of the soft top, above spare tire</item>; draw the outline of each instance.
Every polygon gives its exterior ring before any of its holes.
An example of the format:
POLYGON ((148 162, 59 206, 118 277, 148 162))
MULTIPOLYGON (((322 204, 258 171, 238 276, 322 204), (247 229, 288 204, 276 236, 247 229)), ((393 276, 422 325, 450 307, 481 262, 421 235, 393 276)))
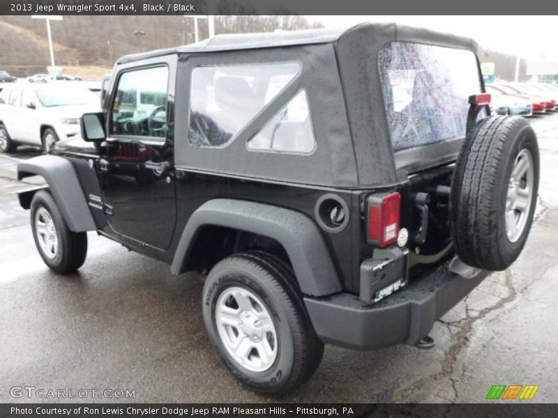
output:
POLYGON ((481 93, 473 52, 390 42, 379 74, 393 150, 465 137, 469 95, 481 93))

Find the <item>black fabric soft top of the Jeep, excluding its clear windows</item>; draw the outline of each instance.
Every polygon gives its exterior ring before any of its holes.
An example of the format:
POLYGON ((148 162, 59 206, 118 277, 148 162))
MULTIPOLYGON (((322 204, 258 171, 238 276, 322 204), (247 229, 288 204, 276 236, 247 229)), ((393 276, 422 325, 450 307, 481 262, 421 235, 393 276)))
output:
MULTIPOLYGON (((457 157, 462 139, 394 153, 379 76, 379 51, 389 42, 416 42, 466 49, 468 38, 397 24, 363 23, 348 29, 318 29, 219 35, 173 49, 125 56, 119 64, 154 62, 178 55, 176 132, 188 132, 190 73, 197 66, 298 61, 302 71, 225 149, 175 144, 176 167, 232 176, 325 187, 387 187, 409 173, 446 164, 457 157), (306 89, 317 141, 312 155, 253 153, 246 141, 276 115, 301 88, 306 89)), ((480 68, 478 71, 481 83, 480 68)))

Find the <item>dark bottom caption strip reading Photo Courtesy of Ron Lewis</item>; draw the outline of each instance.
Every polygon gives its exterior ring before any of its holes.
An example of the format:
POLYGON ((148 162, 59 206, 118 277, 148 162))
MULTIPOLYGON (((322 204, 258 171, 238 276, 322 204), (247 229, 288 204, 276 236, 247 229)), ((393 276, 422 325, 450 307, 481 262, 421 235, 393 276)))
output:
POLYGON ((557 404, 367 404, 367 403, 27 403, 1 404, 2 418, 308 418, 308 417, 556 417, 557 404))

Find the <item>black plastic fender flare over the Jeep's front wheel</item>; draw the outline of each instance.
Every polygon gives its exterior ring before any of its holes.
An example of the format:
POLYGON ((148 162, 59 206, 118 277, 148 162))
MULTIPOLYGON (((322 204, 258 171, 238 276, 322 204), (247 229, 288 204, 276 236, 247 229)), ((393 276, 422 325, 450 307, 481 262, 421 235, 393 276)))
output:
MULTIPOLYGON (((70 231, 84 232, 97 229, 91 210, 87 206, 80 180, 70 161, 56 155, 41 155, 17 164, 17 180, 31 176, 45 178, 70 231)), ((35 194, 36 191, 36 189, 27 191, 27 195, 20 196, 20 204, 24 209, 27 209, 25 203, 29 200, 29 193, 35 194)))

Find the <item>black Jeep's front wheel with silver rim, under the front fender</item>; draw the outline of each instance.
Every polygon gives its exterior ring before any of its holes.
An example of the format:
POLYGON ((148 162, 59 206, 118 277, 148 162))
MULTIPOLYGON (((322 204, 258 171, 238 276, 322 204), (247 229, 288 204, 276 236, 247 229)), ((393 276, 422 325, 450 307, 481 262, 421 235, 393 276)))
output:
POLYGON ((87 233, 73 232, 47 190, 39 190, 31 201, 33 239, 45 264, 58 273, 75 272, 85 262, 87 233))

